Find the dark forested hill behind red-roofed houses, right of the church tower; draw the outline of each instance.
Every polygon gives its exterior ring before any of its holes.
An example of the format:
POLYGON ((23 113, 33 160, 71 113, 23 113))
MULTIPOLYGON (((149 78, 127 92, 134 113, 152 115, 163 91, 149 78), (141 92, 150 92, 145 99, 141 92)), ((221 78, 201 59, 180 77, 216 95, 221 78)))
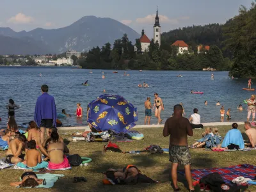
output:
POLYGON ((161 43, 170 45, 176 40, 184 40, 194 52, 197 51, 197 46, 199 44, 210 46, 217 45, 221 51, 223 51, 223 56, 227 57, 230 55, 228 54, 228 51, 224 49, 225 44, 223 44, 225 40, 223 36, 223 28, 225 25, 226 24, 207 24, 205 26, 190 26, 174 29, 162 33, 161 43))

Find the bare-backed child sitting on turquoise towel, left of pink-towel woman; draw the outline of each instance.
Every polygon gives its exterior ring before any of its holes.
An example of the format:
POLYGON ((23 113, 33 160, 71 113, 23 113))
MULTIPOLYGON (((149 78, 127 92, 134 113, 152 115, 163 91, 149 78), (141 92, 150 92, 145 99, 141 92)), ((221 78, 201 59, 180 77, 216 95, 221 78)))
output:
POLYGON ((48 163, 46 161, 42 161, 41 153, 36 150, 35 140, 28 141, 28 148, 29 150, 26 152, 25 161, 17 163, 17 166, 29 170, 40 170, 47 167, 48 163))

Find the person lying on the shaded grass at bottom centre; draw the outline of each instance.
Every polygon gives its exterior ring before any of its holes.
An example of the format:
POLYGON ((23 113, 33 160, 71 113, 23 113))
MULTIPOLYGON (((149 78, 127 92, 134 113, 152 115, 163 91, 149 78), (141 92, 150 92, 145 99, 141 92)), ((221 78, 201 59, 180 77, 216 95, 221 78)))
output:
POLYGON ((102 180, 104 184, 136 184, 141 183, 156 183, 156 180, 152 180, 146 175, 142 175, 140 170, 134 165, 127 165, 122 169, 110 168, 102 180))

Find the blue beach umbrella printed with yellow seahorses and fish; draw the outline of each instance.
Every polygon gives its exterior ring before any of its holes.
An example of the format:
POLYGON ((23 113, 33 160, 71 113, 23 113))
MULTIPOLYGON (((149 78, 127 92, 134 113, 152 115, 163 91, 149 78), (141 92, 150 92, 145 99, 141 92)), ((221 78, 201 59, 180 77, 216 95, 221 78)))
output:
POLYGON ((88 104, 88 121, 98 131, 127 132, 138 121, 137 108, 119 95, 100 95, 88 104))

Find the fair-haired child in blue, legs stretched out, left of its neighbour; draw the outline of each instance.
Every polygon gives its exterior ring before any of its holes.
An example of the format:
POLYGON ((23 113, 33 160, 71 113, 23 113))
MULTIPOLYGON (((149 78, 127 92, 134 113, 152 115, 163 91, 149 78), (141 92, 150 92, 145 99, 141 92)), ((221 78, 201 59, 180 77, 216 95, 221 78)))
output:
POLYGON ((213 136, 211 127, 207 127, 205 132, 202 133, 202 138, 197 140, 193 145, 190 145, 189 148, 211 148, 214 145, 213 136))

